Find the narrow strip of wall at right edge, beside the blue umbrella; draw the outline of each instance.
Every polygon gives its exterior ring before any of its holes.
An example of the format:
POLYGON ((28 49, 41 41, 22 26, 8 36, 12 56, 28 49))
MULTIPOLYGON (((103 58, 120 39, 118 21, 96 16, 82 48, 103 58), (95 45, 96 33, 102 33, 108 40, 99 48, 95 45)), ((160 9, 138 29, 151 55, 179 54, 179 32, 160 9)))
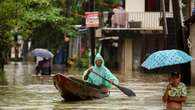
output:
MULTIPOLYGON (((193 58, 195 58, 195 23, 191 26, 191 32, 190 32, 190 41, 192 44, 191 47, 191 55, 193 58)), ((195 60, 193 59, 191 61, 191 81, 192 85, 195 85, 195 60)))

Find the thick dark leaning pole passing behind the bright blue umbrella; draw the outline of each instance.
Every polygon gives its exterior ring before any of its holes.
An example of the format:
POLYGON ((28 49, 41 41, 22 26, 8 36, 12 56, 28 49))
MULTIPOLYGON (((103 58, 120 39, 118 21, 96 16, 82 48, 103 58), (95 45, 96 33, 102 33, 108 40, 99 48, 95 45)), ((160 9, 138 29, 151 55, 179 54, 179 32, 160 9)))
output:
MULTIPOLYGON (((182 7, 181 0, 172 0, 173 5, 173 16, 176 27, 176 40, 177 40, 177 48, 189 53, 189 49, 187 46, 187 38, 184 34, 183 29, 183 21, 182 21, 182 7)), ((185 84, 190 85, 191 83, 191 71, 190 71, 190 63, 182 64, 181 68, 181 80, 185 84)))

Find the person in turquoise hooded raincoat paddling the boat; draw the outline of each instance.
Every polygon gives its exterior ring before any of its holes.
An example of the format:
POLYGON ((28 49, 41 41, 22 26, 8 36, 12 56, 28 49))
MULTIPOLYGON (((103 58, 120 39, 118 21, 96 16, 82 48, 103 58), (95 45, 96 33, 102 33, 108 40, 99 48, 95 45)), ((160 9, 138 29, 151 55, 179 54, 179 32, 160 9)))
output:
POLYGON ((110 82, 113 82, 115 84, 119 83, 118 79, 111 73, 111 71, 104 66, 104 59, 99 53, 96 55, 94 62, 95 66, 90 67, 84 72, 83 75, 84 80, 94 85, 102 86, 108 89, 112 88, 112 84, 110 82), (108 79, 110 82, 102 79, 92 71, 108 79))

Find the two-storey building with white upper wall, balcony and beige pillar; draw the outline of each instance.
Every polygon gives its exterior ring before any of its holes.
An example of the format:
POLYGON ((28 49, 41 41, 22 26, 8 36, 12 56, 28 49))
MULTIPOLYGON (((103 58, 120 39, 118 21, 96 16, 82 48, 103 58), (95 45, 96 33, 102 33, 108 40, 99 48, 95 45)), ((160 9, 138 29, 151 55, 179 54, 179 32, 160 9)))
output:
MULTIPOLYGON (((166 18, 173 18, 171 0, 165 0, 165 5, 166 18)), ((109 39, 102 40, 102 53, 109 68, 132 74, 133 70, 140 70, 147 55, 166 47, 166 39, 160 0, 126 0, 124 6, 127 16, 124 27, 102 27, 102 36, 109 39), (119 39, 112 39, 117 37, 119 39)), ((107 18, 108 12, 105 12, 104 23, 107 18)))

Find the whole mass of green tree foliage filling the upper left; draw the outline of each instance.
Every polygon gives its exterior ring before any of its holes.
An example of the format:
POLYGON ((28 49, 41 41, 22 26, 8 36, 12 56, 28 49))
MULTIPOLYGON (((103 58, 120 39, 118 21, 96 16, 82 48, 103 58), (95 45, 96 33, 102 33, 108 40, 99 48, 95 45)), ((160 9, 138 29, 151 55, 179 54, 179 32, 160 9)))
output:
MULTIPOLYGON (((57 48, 64 33, 77 36, 74 25, 83 23, 84 12, 88 11, 90 1, 1 0, 0 54, 6 53, 14 45, 14 37, 17 35, 23 39, 33 39, 34 48, 57 48)), ((111 9, 112 4, 119 1, 95 0, 95 10, 111 9)))

